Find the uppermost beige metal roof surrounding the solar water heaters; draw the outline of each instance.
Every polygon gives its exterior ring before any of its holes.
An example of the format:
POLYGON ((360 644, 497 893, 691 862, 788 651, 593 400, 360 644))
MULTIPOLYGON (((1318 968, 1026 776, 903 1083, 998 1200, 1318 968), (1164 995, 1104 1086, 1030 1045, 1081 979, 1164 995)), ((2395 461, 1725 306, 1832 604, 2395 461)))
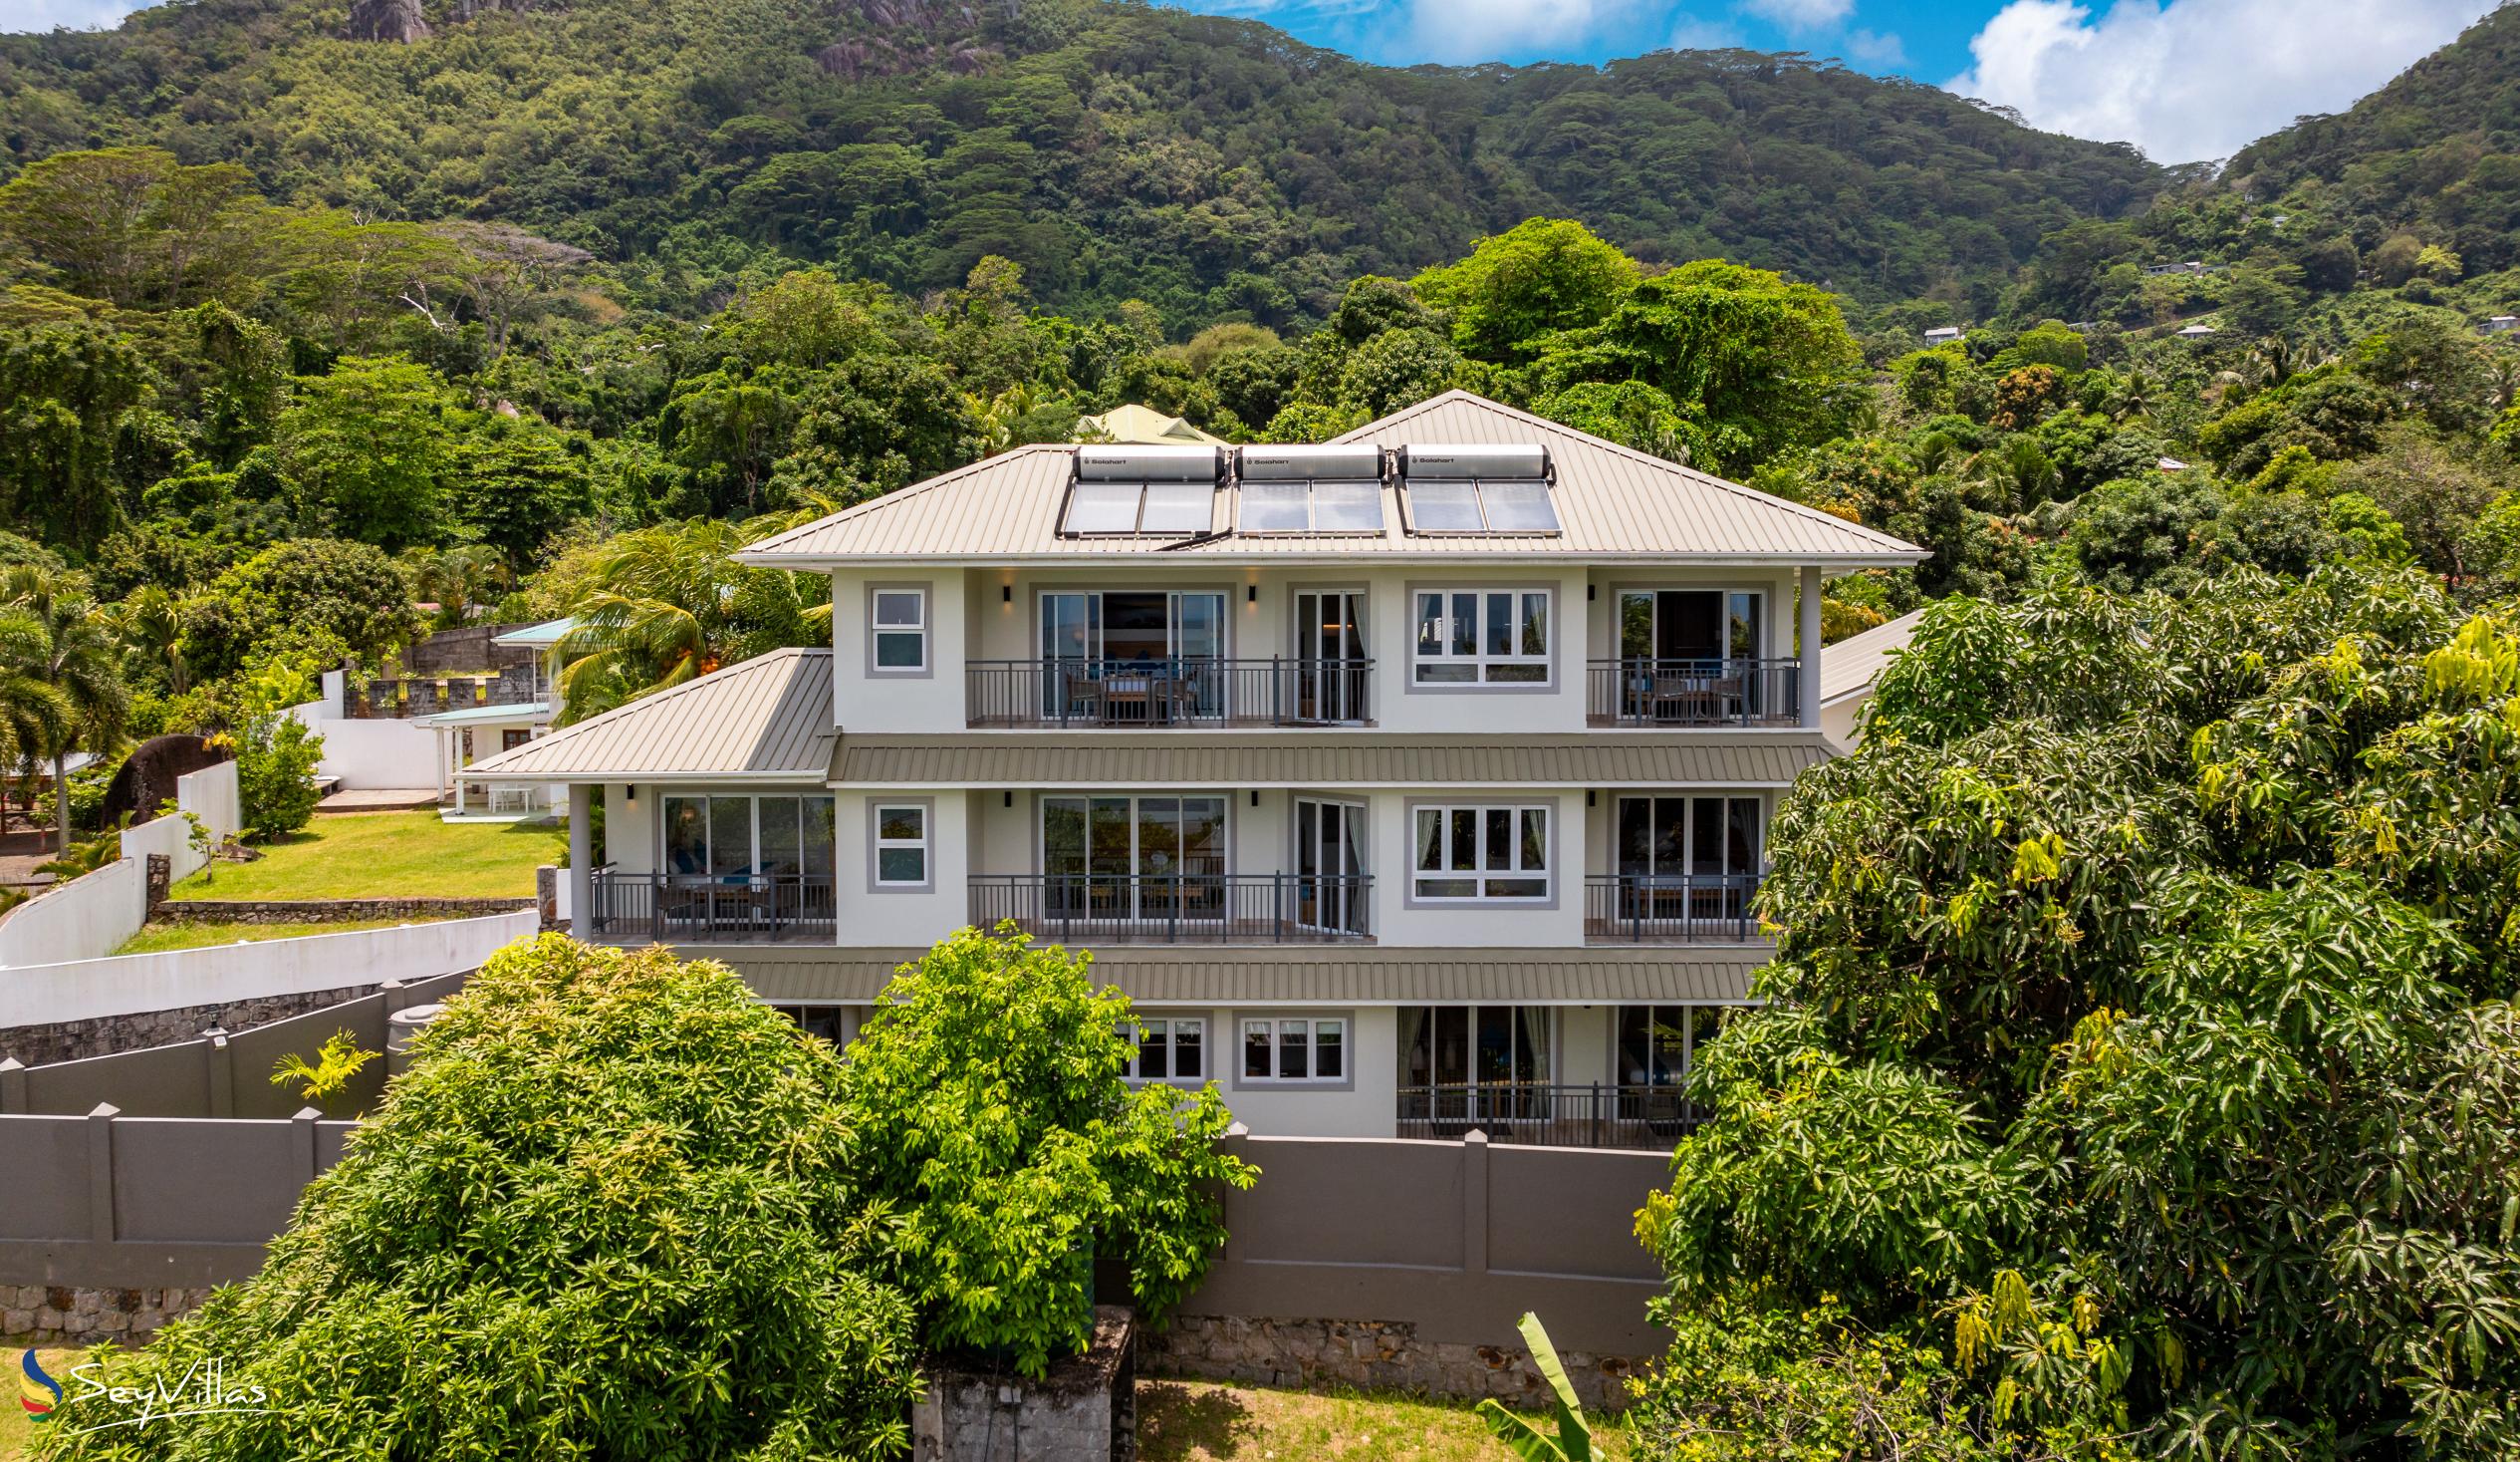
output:
MULTIPOLYGON (((849 562, 1111 562, 1114 557, 1197 557, 1207 562, 1373 562, 1391 555, 1426 560, 1580 557, 1600 562, 1809 562, 1832 567, 1913 565, 1925 550, 1830 517, 1819 509, 1751 492, 1704 471, 1615 446, 1555 421, 1499 406, 1467 391, 1361 426, 1341 441, 1542 444, 1557 469, 1552 502, 1565 532, 1555 537, 1411 537, 1399 489, 1383 484, 1383 527, 1363 534, 1242 537, 1205 542, 1061 537, 1068 446, 1018 446, 973 466, 819 522, 761 539, 738 557, 769 567, 849 562)), ((1235 522, 1235 492, 1220 492, 1212 524, 1235 522)))

